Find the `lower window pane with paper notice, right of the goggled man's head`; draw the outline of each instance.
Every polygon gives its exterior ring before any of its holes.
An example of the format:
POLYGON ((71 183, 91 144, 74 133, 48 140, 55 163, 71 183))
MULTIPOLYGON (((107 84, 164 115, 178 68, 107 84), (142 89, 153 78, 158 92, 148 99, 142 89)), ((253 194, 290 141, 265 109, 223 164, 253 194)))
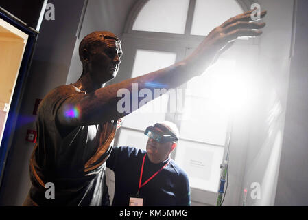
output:
POLYGON ((185 140, 176 149, 176 163, 187 172, 190 186, 211 192, 217 192, 223 156, 223 147, 185 140))

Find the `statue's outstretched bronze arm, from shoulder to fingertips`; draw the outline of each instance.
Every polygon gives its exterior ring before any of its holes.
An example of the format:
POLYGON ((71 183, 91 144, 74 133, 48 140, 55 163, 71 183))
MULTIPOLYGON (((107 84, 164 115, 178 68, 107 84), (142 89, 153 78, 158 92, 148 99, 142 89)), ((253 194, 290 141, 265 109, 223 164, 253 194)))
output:
MULTIPOLYGON (((154 90, 155 86, 152 85, 160 85, 160 88, 170 89, 182 85, 194 76, 199 76, 237 37, 262 34, 260 29, 265 26, 265 23, 250 22, 251 13, 252 11, 248 11, 239 14, 213 29, 196 50, 183 61, 150 74, 97 89, 91 94, 77 94, 67 99, 57 113, 60 124, 64 126, 97 124, 128 115, 127 112, 120 113, 117 110, 117 103, 122 98, 117 97, 117 91, 128 89, 132 96, 133 83, 138 84, 139 90, 143 88, 154 90), (68 119, 64 116, 67 105, 79 109, 78 117, 68 119)), ((261 12, 261 18, 265 14, 265 11, 261 12)))

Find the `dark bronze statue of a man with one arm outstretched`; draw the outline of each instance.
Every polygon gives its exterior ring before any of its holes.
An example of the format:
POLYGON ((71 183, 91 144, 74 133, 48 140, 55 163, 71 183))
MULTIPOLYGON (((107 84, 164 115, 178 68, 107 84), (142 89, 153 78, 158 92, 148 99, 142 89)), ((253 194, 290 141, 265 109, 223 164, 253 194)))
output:
POLYGON ((184 61, 108 87, 105 83, 119 70, 121 42, 110 32, 88 34, 80 43, 80 79, 50 91, 40 103, 38 139, 30 159, 32 187, 25 206, 101 205, 106 191, 106 159, 112 150, 117 119, 128 114, 117 111, 121 99, 117 91, 128 89, 132 94, 133 83, 138 83, 139 89, 154 91, 154 82, 170 89, 199 76, 230 41, 262 33, 259 29, 265 23, 250 23, 251 12, 215 28, 184 61))

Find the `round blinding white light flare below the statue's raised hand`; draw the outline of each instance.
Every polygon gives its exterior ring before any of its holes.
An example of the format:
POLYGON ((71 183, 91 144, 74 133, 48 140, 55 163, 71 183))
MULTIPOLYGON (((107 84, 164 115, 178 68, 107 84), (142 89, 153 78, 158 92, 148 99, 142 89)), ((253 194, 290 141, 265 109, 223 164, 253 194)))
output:
POLYGON ((203 85, 199 85, 198 94, 203 90, 206 98, 230 113, 249 111, 257 97, 256 82, 250 72, 239 69, 239 66, 234 60, 218 60, 199 80, 203 85))

